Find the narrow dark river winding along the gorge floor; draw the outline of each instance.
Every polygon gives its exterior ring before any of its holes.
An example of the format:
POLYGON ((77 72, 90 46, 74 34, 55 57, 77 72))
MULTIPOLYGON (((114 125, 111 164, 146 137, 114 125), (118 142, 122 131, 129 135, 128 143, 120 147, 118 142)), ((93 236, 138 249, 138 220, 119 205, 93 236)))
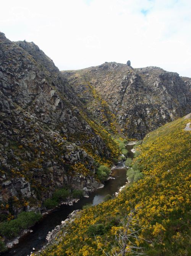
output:
MULTIPOLYGON (((133 145, 127 145, 128 157, 133 158, 133 153, 131 149, 133 145)), ((119 163, 112 169, 112 176, 115 179, 110 179, 105 183, 103 188, 99 188, 89 195, 89 198, 83 198, 79 200, 74 205, 61 205, 52 211, 50 214, 44 216, 39 223, 36 223, 31 229, 33 232, 23 236, 19 243, 16 244, 6 253, 2 253, 2 256, 26 256, 30 255, 32 248, 36 250, 42 248, 46 244, 46 236, 49 231, 55 228, 55 226, 60 225, 62 220, 65 220, 67 216, 74 210, 82 209, 83 205, 91 203, 92 205, 97 205, 104 201, 106 195, 115 195, 120 187, 125 185, 127 168, 123 163, 119 163)))

